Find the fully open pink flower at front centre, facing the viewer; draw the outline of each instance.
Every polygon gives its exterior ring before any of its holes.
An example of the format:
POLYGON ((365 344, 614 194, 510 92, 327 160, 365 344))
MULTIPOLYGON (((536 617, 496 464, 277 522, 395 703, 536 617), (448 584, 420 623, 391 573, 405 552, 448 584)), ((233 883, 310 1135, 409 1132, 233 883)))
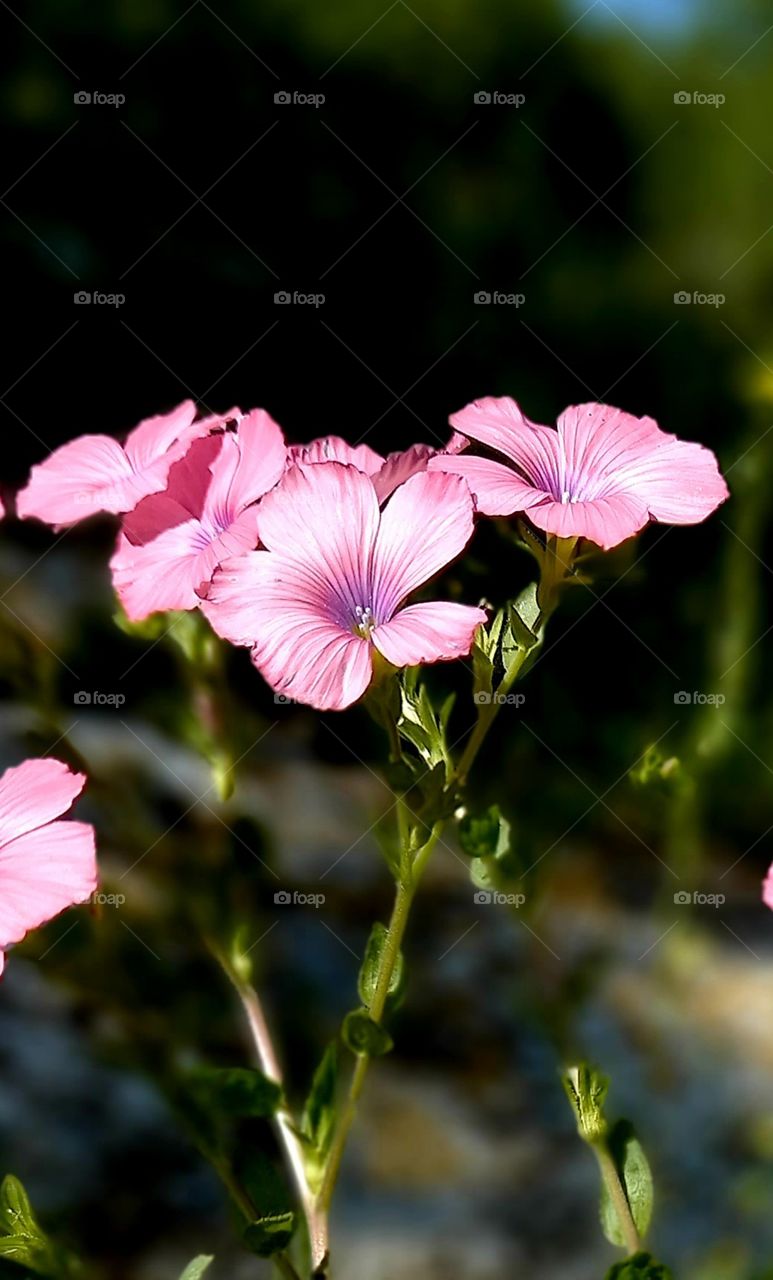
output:
POLYGON ((294 466, 264 498, 259 527, 267 550, 223 564, 202 608, 288 698, 342 710, 370 685, 374 648, 395 667, 458 658, 486 621, 465 604, 403 608, 472 534, 456 476, 415 475, 380 511, 356 467, 294 466))

